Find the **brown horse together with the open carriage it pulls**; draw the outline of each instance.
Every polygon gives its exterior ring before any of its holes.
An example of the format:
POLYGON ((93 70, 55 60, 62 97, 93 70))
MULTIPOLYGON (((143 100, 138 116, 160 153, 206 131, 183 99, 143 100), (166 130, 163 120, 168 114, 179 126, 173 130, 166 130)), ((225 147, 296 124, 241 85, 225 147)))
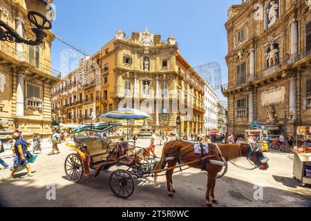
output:
MULTIPOLYGON (((89 126, 85 128, 88 130, 89 126)), ((162 156, 157 158, 159 160, 157 162, 150 157, 148 148, 131 146, 129 142, 113 142, 95 136, 75 137, 74 142, 75 145, 67 144, 75 150, 75 153, 66 157, 64 164, 68 180, 80 182, 84 174, 86 177, 97 177, 101 171, 108 171, 116 166, 117 169, 110 175, 109 185, 113 194, 124 199, 133 194, 135 179, 152 176, 156 182, 156 178, 160 175, 166 175, 167 191, 169 196, 173 196, 176 189, 173 187, 172 174, 179 172, 174 172, 174 169, 180 168, 182 171, 182 168, 185 170, 187 166, 186 169, 196 168, 207 173, 205 198, 207 205, 211 206, 212 202, 217 203, 214 195, 216 178, 225 175, 227 162, 246 157, 254 164, 254 169, 267 169, 268 167, 268 159, 262 151, 248 144, 206 144, 207 148, 204 148, 200 144, 174 140, 165 144, 162 156), (196 148, 199 153, 196 153, 196 148), (94 175, 91 175, 90 169, 95 170, 94 175), (166 173, 159 174, 163 171, 166 173), (218 175, 221 171, 223 173, 218 175)))

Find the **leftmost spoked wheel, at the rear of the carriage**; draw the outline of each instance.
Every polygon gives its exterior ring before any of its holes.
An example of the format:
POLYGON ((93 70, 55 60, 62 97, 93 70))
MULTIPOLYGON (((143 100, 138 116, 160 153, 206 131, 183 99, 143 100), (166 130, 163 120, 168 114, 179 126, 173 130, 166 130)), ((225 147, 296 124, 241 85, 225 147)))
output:
POLYGON ((83 166, 81 157, 72 153, 66 157, 65 173, 71 182, 79 182, 83 176, 83 166))

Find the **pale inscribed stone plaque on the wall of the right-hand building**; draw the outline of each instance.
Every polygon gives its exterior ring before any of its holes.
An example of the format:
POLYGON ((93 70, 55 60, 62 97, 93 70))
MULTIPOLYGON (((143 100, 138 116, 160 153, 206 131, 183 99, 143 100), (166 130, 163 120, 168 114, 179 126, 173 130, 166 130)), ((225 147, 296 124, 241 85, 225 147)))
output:
POLYGON ((285 99, 285 87, 279 86, 276 88, 275 86, 266 90, 261 94, 261 104, 263 106, 270 106, 270 104, 282 104, 285 99))

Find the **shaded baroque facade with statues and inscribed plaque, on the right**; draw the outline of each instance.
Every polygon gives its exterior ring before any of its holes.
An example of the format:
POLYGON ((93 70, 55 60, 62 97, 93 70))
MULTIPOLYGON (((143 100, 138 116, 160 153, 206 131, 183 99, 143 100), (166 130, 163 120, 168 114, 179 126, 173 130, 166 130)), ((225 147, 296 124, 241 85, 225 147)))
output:
POLYGON ((228 10, 229 132, 311 125, 310 1, 243 1, 228 10))

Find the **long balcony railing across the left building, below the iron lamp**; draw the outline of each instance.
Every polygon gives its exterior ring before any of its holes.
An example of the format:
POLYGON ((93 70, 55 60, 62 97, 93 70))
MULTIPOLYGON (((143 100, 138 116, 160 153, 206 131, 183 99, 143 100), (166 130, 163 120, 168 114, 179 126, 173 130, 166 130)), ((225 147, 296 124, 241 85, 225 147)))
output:
POLYGON ((2 55, 8 55, 18 62, 26 62, 31 66, 34 66, 36 70, 61 79, 61 73, 59 71, 51 68, 50 66, 46 66, 46 64, 38 62, 35 57, 30 57, 28 52, 18 52, 16 48, 13 48, 9 44, 6 44, 4 41, 0 41, 0 57, 2 55))

